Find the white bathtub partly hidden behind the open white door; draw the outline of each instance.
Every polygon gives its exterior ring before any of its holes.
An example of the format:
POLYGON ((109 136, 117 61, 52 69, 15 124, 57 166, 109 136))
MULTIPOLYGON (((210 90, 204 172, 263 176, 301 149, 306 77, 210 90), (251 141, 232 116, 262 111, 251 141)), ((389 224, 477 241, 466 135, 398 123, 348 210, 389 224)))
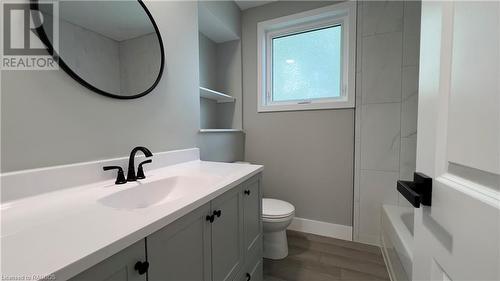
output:
POLYGON ((413 265, 413 208, 382 206, 381 245, 392 281, 411 280, 413 265))

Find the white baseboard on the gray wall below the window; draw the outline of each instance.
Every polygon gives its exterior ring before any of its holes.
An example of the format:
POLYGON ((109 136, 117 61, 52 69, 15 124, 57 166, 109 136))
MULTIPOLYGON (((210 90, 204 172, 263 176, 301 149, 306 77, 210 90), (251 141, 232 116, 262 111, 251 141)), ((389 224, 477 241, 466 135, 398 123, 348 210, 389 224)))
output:
POLYGON ((342 224, 293 218, 288 229, 352 241, 352 226, 342 224))

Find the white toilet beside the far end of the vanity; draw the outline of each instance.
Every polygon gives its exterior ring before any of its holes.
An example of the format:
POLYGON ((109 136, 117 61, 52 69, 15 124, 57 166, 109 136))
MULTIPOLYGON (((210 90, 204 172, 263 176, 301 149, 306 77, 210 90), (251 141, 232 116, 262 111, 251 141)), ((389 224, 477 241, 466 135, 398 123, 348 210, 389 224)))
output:
POLYGON ((284 259, 288 255, 286 228, 295 214, 292 204, 271 198, 262 199, 262 224, 264 228, 264 258, 284 259))

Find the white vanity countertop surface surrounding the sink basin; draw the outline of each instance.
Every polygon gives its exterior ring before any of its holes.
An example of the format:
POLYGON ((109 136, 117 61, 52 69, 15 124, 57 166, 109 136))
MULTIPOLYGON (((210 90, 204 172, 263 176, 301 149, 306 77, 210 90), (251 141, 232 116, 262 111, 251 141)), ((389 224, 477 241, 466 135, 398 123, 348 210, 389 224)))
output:
POLYGON ((165 227, 262 169, 259 165, 195 160, 146 171, 147 179, 142 183, 179 175, 210 175, 216 180, 207 181, 203 188, 194 188, 189 196, 140 209, 116 209, 98 202, 107 195, 141 184, 115 185, 114 180, 2 204, 2 276, 19 278, 54 274, 57 280, 66 280, 165 227))

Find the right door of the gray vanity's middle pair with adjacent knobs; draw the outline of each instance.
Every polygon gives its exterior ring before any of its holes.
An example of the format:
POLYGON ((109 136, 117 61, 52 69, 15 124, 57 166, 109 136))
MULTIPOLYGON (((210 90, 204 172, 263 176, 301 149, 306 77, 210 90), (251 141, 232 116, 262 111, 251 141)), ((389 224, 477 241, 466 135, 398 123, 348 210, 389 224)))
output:
POLYGON ((234 280, 243 263, 243 206, 241 186, 212 201, 213 281, 234 280))

